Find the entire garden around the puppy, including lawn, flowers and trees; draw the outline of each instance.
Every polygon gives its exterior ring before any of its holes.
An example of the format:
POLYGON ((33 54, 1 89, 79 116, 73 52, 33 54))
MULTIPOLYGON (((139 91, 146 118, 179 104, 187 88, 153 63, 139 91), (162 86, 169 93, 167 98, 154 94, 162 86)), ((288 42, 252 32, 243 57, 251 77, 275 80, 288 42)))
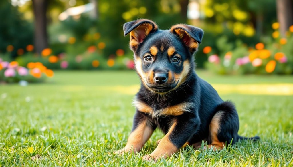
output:
POLYGON ((2 0, 0 16, 0 166, 293 165, 292 0, 2 0), (122 25, 138 18, 204 30, 197 73, 260 142, 143 162, 156 131, 138 156, 113 154, 139 89, 122 25))

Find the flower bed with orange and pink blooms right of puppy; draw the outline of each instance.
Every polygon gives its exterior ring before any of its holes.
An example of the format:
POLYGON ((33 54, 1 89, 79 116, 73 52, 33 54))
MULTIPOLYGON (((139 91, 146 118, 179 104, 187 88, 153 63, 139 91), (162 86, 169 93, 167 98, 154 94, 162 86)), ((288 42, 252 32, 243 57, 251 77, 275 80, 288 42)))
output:
POLYGON ((265 38, 254 48, 247 47, 241 41, 228 43, 225 37, 219 39, 217 47, 222 53, 213 53, 207 46, 203 52, 208 56, 206 67, 219 74, 292 74, 293 73, 293 25, 281 37, 278 31, 279 24, 274 23, 275 30, 271 38, 265 38), (231 50, 228 50, 231 49, 231 50))

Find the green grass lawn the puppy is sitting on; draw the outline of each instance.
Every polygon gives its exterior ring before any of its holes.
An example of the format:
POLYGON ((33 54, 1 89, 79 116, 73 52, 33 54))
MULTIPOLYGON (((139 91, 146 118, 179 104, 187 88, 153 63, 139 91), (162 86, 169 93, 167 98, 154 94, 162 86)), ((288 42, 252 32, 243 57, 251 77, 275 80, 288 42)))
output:
POLYGON ((191 147, 157 163, 114 155, 127 142, 139 88, 134 71, 57 71, 43 84, 0 85, 0 166, 293 166, 293 77, 216 76, 199 71, 224 100, 235 102, 238 142, 214 152, 191 147), (110 154, 108 154, 110 152, 110 154))

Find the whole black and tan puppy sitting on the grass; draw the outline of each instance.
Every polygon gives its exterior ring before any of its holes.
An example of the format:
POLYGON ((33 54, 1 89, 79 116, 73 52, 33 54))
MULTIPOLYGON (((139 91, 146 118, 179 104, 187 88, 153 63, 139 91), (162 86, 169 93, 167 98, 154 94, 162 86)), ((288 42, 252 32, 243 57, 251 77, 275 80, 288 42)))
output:
POLYGON ((170 156, 186 144, 200 146, 202 140, 207 148, 222 149, 248 139, 237 134, 239 118, 234 105, 223 101, 195 73, 193 54, 202 40, 200 28, 178 24, 159 30, 146 19, 125 23, 123 28, 124 35, 130 34, 141 88, 134 101, 137 111, 132 132, 126 146, 116 153, 137 153, 157 127, 166 135, 145 160, 170 156))

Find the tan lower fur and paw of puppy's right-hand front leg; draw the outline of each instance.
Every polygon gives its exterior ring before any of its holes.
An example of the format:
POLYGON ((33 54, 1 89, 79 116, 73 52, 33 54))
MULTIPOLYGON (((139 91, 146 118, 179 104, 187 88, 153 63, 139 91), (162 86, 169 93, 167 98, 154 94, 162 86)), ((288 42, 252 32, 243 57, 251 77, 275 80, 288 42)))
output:
POLYGON ((171 154, 178 151, 178 148, 169 140, 169 136, 174 130, 175 126, 176 121, 172 124, 168 133, 160 140, 156 149, 151 154, 143 157, 144 160, 150 161, 153 159, 156 161, 160 157, 166 158, 167 156, 171 156, 171 154))

